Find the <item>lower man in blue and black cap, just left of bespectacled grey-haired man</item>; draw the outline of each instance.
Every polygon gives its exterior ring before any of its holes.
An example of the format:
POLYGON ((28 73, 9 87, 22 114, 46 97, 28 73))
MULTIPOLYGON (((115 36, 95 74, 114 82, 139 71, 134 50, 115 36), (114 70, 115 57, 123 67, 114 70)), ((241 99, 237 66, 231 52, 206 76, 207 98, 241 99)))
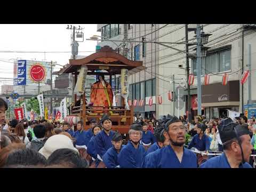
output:
POLYGON ((107 150, 107 152, 103 155, 102 160, 107 168, 117 168, 119 167, 118 162, 118 154, 124 147, 122 145, 123 139, 120 133, 115 133, 112 138, 112 147, 107 150))

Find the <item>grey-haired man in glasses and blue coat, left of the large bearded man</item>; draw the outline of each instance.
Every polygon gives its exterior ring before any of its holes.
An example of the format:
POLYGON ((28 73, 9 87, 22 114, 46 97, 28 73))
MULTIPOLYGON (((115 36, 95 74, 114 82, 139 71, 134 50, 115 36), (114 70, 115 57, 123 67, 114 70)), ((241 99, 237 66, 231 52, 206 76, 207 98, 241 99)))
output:
POLYGON ((129 130, 130 141, 118 154, 121 168, 141 168, 146 150, 140 145, 142 127, 140 124, 132 124, 129 130))

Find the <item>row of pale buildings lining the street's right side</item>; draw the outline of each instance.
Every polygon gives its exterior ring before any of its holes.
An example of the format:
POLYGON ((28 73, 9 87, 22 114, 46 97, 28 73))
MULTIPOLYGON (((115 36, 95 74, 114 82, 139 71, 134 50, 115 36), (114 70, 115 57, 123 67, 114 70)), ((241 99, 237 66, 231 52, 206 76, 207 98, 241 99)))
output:
MULTIPOLYGON (((98 31, 102 32, 101 36, 113 40, 123 39, 123 24, 107 25, 99 24, 98 31), (115 28, 119 31, 116 33, 115 28), (110 31, 110 32, 109 32, 110 31)), ((189 25, 191 27, 192 25, 189 25)), ((209 42, 204 46, 210 47, 207 51, 206 58, 202 60, 202 114, 207 117, 225 116, 227 109, 236 110, 242 113, 243 105, 248 100, 248 81, 243 85, 239 82, 242 76, 242 66, 247 70, 247 44, 251 44, 252 52, 252 100, 256 100, 256 75, 254 70, 256 49, 255 42, 255 25, 237 25, 237 24, 204 24, 205 34, 212 34, 209 42), (244 54, 243 54, 244 52, 244 54), (244 55, 244 57, 242 57, 244 55), (222 75, 228 75, 229 83, 222 85, 222 75), (210 84, 204 85, 204 75, 210 75, 210 84), (242 94, 243 90, 243 94, 242 94), (243 101, 242 101, 243 100, 243 101), (243 103, 242 103, 243 102, 243 103)), ((183 24, 129 24, 128 38, 131 41, 158 41, 158 42, 184 42, 185 25, 183 24)), ((194 31, 188 33, 189 43, 196 43, 194 31)), ((116 42, 120 44, 122 42, 116 42)), ((98 45, 109 45, 116 48, 113 42, 100 42, 98 45)), ((185 51, 185 44, 167 44, 178 50, 185 51)), ((121 46, 122 47, 122 46, 121 46)), ((166 114, 173 114, 173 102, 167 99, 167 92, 173 91, 172 76, 175 79, 175 88, 187 86, 186 77, 186 54, 168 47, 154 43, 129 43, 128 59, 141 60, 146 70, 140 71, 129 77, 131 99, 145 99, 144 107, 136 107, 135 113, 152 116, 156 113, 156 118, 166 114), (156 103, 157 96, 162 95, 163 103, 156 103), (154 104, 149 107, 148 99, 152 97, 154 104)), ((189 53, 196 54, 193 50, 196 45, 189 46, 189 53)), ((122 52, 121 52, 122 54, 122 52)), ((190 73, 196 75, 196 59, 189 58, 190 73)), ((187 101, 186 89, 184 103, 180 103, 180 110, 175 108, 175 115, 186 115, 187 102, 194 102, 197 95, 197 79, 195 77, 193 86, 190 86, 190 95, 192 101, 187 101)), ((182 92, 182 91, 181 91, 182 92)), ((191 105, 193 116, 197 114, 197 106, 191 105)))

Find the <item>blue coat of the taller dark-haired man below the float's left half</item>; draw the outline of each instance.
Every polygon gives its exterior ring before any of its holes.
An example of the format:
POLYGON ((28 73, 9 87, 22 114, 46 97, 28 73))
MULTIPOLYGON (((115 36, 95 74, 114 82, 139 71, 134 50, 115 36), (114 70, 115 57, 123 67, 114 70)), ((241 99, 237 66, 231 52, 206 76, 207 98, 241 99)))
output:
POLYGON ((97 157, 102 161, 102 156, 106 153, 106 151, 112 147, 112 138, 115 132, 110 131, 109 135, 106 134, 104 130, 99 132, 95 136, 94 148, 97 152, 97 157))

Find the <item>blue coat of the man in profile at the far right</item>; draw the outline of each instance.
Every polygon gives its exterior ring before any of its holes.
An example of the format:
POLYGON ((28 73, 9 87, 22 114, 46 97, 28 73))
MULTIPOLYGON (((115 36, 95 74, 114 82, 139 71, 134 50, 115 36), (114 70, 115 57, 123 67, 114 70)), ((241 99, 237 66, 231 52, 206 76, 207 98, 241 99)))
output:
MULTIPOLYGON (((199 168, 231 168, 228 163, 228 159, 225 153, 218 155, 216 157, 212 157, 208 159, 206 162, 202 163, 199 168)), ((239 168, 252 168, 249 163, 240 164, 239 168)))

